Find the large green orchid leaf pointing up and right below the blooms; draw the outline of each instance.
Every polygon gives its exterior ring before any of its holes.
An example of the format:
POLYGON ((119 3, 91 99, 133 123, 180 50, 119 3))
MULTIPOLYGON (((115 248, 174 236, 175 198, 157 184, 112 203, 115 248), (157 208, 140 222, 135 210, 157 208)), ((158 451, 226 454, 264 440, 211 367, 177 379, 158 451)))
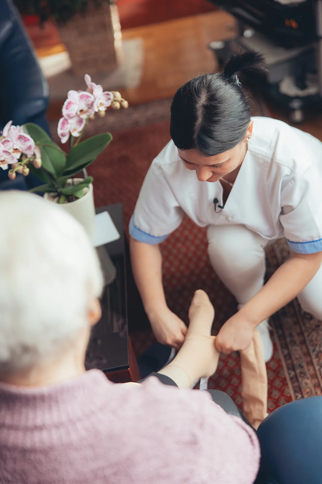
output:
POLYGON ((89 165, 107 147, 111 139, 110 133, 101 133, 73 146, 67 155, 65 169, 79 171, 80 166, 89 165))

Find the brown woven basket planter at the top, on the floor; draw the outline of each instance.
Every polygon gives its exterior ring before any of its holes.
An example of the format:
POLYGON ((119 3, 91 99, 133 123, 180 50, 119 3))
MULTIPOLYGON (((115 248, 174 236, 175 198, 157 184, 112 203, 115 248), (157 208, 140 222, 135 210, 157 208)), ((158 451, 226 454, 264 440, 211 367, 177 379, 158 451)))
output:
POLYGON ((103 2, 99 8, 88 2, 86 12, 59 27, 76 76, 111 72, 120 63, 121 27, 116 5, 103 2))

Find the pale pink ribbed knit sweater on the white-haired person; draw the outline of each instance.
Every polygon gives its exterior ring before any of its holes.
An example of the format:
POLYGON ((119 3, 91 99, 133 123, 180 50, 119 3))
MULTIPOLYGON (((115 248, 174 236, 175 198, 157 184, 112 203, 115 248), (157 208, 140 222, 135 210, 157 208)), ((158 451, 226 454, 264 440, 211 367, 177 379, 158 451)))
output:
POLYGON ((243 484, 257 438, 207 392, 98 370, 42 389, 0 383, 0 483, 243 484))

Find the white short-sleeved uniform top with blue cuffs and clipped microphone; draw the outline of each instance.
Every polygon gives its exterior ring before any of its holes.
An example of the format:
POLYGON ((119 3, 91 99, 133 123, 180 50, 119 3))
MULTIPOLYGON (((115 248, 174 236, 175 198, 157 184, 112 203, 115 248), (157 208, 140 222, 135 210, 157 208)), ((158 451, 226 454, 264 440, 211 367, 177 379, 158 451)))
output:
POLYGON ((286 237, 294 252, 322 251, 322 143, 282 121, 253 121, 223 210, 216 213, 213 202, 218 198, 223 205, 221 183, 198 181, 170 141, 145 177, 130 235, 149 244, 163 242, 186 213, 200 227, 243 224, 267 240, 286 237))

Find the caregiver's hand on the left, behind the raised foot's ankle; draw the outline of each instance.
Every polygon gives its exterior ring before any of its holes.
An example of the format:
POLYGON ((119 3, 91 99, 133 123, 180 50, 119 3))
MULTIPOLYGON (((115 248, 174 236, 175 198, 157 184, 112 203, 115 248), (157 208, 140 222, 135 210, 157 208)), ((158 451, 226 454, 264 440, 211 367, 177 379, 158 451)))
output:
POLYGON ((176 350, 182 347, 188 328, 168 307, 154 311, 148 317, 154 336, 159 343, 172 346, 176 350))

